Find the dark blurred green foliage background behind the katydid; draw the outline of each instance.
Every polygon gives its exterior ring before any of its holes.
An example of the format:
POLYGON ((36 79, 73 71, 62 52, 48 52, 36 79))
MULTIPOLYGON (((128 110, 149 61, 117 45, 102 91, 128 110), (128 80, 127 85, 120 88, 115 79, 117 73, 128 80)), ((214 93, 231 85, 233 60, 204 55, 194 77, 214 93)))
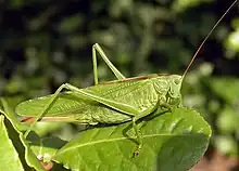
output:
MULTIPOLYGON (((126 76, 181 75, 232 0, 1 0, 0 95, 14 107, 64 82, 93 84, 98 42, 126 76)), ((239 3, 223 19, 183 84, 184 103, 213 128, 212 146, 239 148, 239 3)), ((100 81, 115 79, 99 62, 100 81)), ((54 128, 52 128, 54 129, 54 128)), ((68 134, 66 126, 61 134, 68 134)), ((40 134, 47 134, 49 126, 40 134)))

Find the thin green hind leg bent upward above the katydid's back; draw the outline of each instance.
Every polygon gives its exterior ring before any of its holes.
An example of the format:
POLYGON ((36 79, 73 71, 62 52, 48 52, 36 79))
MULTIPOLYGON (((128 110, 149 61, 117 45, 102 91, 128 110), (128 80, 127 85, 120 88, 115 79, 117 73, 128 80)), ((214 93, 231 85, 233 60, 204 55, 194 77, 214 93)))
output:
POLYGON ((111 61, 106 57, 105 53, 101 49, 101 47, 96 43, 92 45, 92 61, 93 61, 93 79, 95 84, 98 84, 98 69, 97 69, 97 52, 100 54, 100 56, 103 58, 103 61, 108 64, 108 66, 111 68, 111 70, 114 73, 117 79, 124 79, 125 76, 117 70, 117 68, 111 63, 111 61))

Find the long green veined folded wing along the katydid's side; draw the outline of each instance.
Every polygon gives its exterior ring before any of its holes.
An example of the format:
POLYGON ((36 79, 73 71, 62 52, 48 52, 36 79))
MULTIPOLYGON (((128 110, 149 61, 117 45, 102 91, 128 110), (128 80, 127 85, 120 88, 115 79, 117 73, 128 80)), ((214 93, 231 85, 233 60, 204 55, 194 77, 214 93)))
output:
MULTIPOLYGON (((147 80, 128 80, 109 84, 98 84, 81 89, 95 95, 128 104, 139 111, 155 106, 158 95, 153 86, 147 80)), ((25 101, 17 105, 21 116, 36 117, 49 102, 51 95, 25 101)), ((62 118, 64 121, 88 123, 117 123, 130 120, 131 117, 106 107, 96 101, 78 96, 74 92, 61 93, 45 117, 62 118)))

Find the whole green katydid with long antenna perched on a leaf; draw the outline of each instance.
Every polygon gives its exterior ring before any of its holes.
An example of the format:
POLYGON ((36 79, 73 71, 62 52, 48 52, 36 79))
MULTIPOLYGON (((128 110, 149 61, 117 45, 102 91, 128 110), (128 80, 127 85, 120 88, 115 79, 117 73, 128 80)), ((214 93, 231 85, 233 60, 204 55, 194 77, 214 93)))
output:
POLYGON ((52 95, 28 100, 18 104, 16 106, 16 114, 27 117, 25 121, 33 121, 25 136, 28 135, 35 123, 40 120, 88 124, 131 121, 138 141, 137 150, 139 150, 142 140, 136 123, 137 120, 160 108, 171 110, 174 107, 181 106, 180 89, 188 69, 206 39, 236 2, 237 0, 213 26, 194 53, 183 76, 153 74, 125 78, 109 61, 101 47, 98 43, 93 44, 95 86, 78 89, 70 83, 64 83, 52 95), (111 68, 117 80, 99 83, 97 52, 111 68), (62 92, 63 89, 68 91, 62 92))

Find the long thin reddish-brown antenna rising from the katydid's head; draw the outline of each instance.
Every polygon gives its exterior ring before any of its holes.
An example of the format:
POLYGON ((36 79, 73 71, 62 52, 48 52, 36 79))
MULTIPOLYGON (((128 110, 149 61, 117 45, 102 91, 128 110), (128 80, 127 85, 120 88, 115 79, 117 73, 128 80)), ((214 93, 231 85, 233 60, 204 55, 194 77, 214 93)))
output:
POLYGON ((196 51, 193 57, 191 58, 190 63, 188 64, 188 67, 186 68, 184 75, 183 75, 183 79, 185 78, 185 75, 188 73, 188 69, 190 68, 191 64, 193 63, 193 61, 196 60, 197 55, 199 54, 200 50, 202 49, 202 47, 204 45, 205 41, 209 39, 209 37, 212 35, 213 30, 216 28, 216 26, 221 23, 221 21, 224 18, 224 16, 230 11, 230 9, 235 5, 235 3, 237 3, 237 0, 234 1, 234 3, 227 9, 227 11, 223 14, 223 16, 221 16, 221 18, 216 22, 216 24, 213 26, 213 28, 210 30, 210 32, 206 35, 205 39, 202 41, 202 43, 200 44, 200 47, 198 48, 198 50, 196 51))

